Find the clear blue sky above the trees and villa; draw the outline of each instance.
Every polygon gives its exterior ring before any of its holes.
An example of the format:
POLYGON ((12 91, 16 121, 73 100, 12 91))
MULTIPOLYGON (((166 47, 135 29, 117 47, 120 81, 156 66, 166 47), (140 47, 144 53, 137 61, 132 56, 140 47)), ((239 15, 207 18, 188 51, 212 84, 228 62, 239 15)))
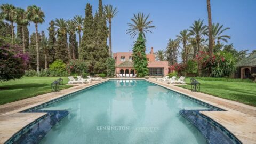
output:
MULTIPOLYGON (((47 34, 50 20, 55 18, 71 19, 74 15, 85 15, 86 3, 93 5, 93 12, 98 9, 97 0, 68 1, 68 0, 1 0, 2 3, 13 4, 26 9, 28 5, 35 4, 45 12, 45 22, 38 26, 39 31, 44 30, 47 34)), ((207 24, 206 0, 103 0, 103 4, 111 4, 118 9, 117 16, 112 23, 113 52, 129 51, 134 39, 126 34, 127 22, 131 22, 133 13, 144 12, 150 14, 150 20, 156 29, 153 34, 147 34, 147 50, 154 47, 154 50, 165 49, 168 39, 174 39, 179 31, 188 29, 194 20, 204 19, 207 24)), ((224 27, 230 27, 225 31, 237 50, 256 49, 256 1, 254 0, 212 0, 212 21, 219 22, 224 27)), ((35 31, 33 24, 29 27, 30 33, 35 31)))

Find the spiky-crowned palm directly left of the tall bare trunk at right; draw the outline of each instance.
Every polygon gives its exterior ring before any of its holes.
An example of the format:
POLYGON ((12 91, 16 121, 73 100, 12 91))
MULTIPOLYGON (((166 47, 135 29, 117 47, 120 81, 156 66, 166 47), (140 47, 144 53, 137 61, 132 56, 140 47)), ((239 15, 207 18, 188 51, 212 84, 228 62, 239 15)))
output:
MULTIPOLYGON (((207 26, 204 25, 204 20, 198 19, 198 21, 194 21, 193 26, 191 26, 190 33, 191 35, 194 35, 196 38, 196 43, 197 43, 197 54, 201 50, 201 41, 203 39, 203 35, 206 35, 207 31, 207 26)), ((198 75, 201 76, 201 65, 198 63, 198 75)))

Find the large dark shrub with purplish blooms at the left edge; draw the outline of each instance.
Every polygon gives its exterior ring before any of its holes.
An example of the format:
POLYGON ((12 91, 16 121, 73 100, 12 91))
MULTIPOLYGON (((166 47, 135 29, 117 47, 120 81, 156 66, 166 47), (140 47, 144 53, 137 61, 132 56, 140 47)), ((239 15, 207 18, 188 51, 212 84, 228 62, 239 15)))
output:
POLYGON ((18 50, 20 47, 0 47, 0 82, 18 79, 25 74, 28 56, 18 50))

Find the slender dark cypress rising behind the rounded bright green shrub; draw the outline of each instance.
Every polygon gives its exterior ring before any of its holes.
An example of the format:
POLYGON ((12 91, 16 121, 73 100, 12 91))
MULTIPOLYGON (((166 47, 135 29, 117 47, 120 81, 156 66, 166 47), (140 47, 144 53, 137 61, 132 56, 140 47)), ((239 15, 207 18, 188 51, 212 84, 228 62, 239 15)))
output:
POLYGON ((49 46, 49 63, 53 63, 55 61, 55 45, 56 45, 56 38, 55 38, 55 22, 54 20, 51 20, 48 27, 48 46, 49 46))

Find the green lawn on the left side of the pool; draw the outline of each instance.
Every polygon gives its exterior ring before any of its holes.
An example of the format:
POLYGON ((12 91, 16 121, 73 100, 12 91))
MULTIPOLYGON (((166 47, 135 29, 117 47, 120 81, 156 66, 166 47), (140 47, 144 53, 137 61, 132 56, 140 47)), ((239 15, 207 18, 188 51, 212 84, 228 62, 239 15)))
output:
MULTIPOLYGON (((23 77, 22 79, 0 83, 0 105, 36 95, 51 92, 51 83, 59 77, 23 77)), ((68 83, 67 77, 61 77, 63 84, 68 83)), ((61 89, 72 87, 62 85, 61 89)))

